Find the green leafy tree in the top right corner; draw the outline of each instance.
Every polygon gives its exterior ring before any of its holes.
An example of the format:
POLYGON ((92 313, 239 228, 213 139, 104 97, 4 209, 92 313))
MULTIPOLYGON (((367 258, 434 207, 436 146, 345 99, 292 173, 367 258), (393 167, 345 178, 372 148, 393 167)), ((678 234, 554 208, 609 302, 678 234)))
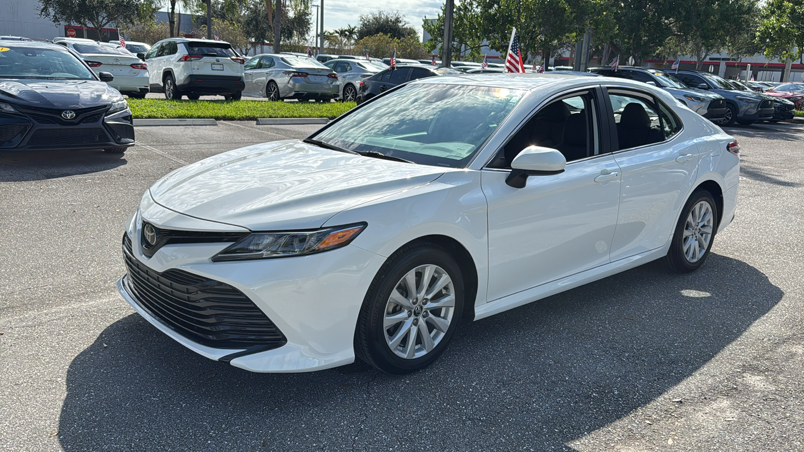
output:
POLYGON ((804 0, 769 0, 762 8, 757 42, 765 56, 796 60, 804 54, 804 0))

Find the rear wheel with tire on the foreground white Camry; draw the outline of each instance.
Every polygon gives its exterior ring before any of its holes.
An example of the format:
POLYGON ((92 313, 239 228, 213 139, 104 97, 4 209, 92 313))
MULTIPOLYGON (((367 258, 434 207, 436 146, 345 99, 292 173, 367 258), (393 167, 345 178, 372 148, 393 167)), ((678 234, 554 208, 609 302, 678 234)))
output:
POLYGON ((684 205, 662 262, 675 273, 690 273, 704 265, 717 231, 717 204, 708 191, 696 191, 684 205))

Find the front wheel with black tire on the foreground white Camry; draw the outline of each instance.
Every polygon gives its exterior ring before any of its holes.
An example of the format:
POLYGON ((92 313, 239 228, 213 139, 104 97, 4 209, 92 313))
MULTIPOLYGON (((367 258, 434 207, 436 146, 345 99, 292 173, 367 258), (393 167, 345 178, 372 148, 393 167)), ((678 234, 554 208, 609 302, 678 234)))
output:
POLYGON ((381 371, 427 367, 447 347, 464 306, 461 269, 437 245, 405 245, 379 269, 363 299, 355 353, 381 371))

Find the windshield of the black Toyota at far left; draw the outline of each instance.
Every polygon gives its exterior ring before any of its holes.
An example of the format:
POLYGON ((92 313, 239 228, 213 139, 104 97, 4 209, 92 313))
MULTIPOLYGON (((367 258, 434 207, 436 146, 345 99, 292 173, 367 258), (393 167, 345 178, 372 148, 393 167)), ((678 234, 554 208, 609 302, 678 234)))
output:
POLYGON ((61 49, 0 47, 0 78, 96 80, 72 53, 61 49))

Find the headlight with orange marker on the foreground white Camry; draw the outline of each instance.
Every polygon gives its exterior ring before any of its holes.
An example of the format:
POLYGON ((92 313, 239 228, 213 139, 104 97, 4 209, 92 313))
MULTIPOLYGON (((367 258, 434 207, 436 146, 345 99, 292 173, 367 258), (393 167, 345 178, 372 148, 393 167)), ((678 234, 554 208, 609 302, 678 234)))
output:
POLYGON ((247 261, 322 253, 350 244, 367 224, 347 224, 314 231, 253 232, 212 257, 212 261, 247 261))

